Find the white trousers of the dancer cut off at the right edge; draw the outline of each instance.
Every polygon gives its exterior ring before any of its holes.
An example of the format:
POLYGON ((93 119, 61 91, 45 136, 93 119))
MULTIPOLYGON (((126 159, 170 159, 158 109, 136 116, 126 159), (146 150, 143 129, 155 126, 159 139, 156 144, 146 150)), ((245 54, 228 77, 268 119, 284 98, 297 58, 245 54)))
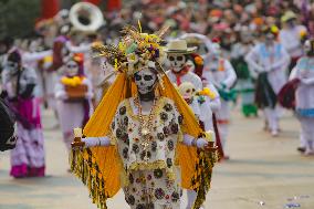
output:
POLYGON ((314 117, 300 117, 300 122, 305 151, 314 151, 314 117))

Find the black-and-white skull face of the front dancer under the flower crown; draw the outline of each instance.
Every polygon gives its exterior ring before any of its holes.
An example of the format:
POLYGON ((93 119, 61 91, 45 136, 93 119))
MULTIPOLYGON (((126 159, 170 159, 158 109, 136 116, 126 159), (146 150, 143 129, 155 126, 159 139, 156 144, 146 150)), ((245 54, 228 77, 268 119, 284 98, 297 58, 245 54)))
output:
POLYGON ((154 91, 157 75, 153 69, 144 69, 134 75, 135 84, 139 94, 145 95, 154 91))

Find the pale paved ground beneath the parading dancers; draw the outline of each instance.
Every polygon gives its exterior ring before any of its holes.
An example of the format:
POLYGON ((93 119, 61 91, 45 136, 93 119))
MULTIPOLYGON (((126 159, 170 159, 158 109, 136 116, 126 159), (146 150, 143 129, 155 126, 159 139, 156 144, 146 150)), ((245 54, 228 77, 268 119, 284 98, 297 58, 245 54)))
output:
MULTIPOLYGON (((51 113, 44 113, 48 177, 12 179, 9 153, 0 154, 0 209, 96 209, 86 188, 66 173, 67 155, 51 113)), ((207 209, 282 209, 300 203, 314 209, 314 157, 295 151, 299 123, 285 114, 281 137, 261 130, 262 119, 233 113, 228 151, 231 160, 214 168, 207 209)), ((314 127, 313 127, 314 128, 314 127)), ((109 209, 127 209, 123 195, 109 209)))

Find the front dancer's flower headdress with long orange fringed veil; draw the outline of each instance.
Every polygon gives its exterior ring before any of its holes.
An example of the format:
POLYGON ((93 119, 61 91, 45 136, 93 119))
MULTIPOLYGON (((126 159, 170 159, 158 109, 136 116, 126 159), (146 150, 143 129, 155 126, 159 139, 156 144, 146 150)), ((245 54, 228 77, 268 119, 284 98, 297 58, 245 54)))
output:
MULTIPOLYGON (((163 29, 155 34, 147 34, 133 27, 126 27, 117 46, 101 44, 93 46, 97 56, 106 56, 107 62, 115 66, 117 76, 86 124, 83 130, 85 136, 97 137, 109 134, 111 123, 118 104, 125 98, 134 97, 137 93, 133 75, 146 66, 157 70, 159 83, 156 90, 159 95, 175 102, 185 118, 182 124, 185 133, 193 137, 205 134, 190 107, 161 69, 160 62, 164 52, 159 43, 165 32, 166 30, 163 29)), ((209 160, 200 160, 195 147, 179 144, 177 156, 181 167, 181 186, 200 191, 195 206, 197 209, 203 202, 210 187, 213 155, 209 160), (197 163, 202 166, 195 166, 197 163), (206 170, 200 171, 201 168, 206 168, 206 170)), ((106 199, 116 195, 124 185, 125 176, 121 175, 124 174, 124 168, 116 146, 73 150, 71 168, 87 185, 93 202, 96 202, 102 209, 106 208, 106 199)))

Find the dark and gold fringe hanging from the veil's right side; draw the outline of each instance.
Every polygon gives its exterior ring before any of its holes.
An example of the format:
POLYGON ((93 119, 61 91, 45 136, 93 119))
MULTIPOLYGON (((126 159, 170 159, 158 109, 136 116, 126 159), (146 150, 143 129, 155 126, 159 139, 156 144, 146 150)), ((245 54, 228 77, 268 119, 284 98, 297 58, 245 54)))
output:
POLYGON ((198 161, 196 164, 196 173, 192 178, 192 186, 197 191, 197 199, 192 209, 199 209, 206 200, 206 195, 210 189, 210 181, 212 175, 212 168, 218 160, 217 151, 206 153, 198 151, 198 161))

